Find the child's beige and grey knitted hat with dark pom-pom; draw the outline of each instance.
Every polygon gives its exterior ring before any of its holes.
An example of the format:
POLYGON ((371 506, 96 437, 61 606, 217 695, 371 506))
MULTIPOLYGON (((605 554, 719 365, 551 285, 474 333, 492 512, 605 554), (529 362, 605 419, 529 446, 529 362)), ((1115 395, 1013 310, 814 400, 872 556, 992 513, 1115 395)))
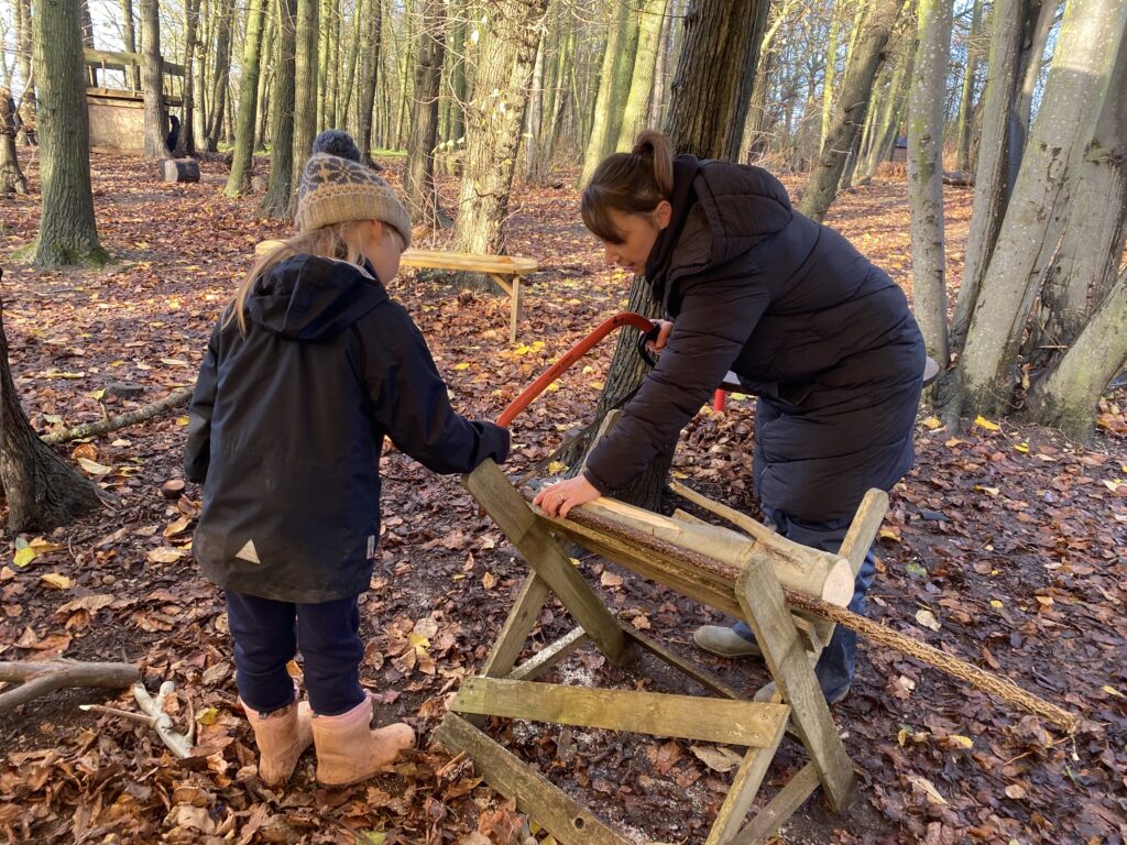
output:
POLYGON ((301 171, 294 223, 310 232, 332 223, 379 220, 411 246, 411 219, 396 192, 360 161, 347 132, 326 130, 313 141, 313 154, 301 171))

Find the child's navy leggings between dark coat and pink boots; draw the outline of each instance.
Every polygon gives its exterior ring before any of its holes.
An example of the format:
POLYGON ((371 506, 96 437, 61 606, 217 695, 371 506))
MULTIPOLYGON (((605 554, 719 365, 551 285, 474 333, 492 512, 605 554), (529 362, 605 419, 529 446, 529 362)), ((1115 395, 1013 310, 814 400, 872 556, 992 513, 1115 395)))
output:
POLYGON ((227 617, 234 639, 239 696, 251 710, 268 713, 293 701, 285 665, 299 649, 314 713, 339 715, 364 701, 356 596, 293 604, 228 590, 227 617))

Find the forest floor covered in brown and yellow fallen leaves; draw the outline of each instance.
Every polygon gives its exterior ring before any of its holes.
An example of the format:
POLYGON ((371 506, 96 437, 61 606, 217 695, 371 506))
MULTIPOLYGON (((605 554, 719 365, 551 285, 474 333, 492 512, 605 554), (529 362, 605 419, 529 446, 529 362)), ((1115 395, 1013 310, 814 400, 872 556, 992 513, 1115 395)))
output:
MULTIPOLYGON (((263 221, 257 197, 222 194, 225 171, 202 162, 197 185, 166 185, 151 164, 91 155, 103 244, 99 270, 42 273, 11 260, 38 221, 37 166, 20 150, 33 196, 0 199, 3 317, 16 385, 46 433, 154 401, 190 384, 212 323, 256 242, 289 232, 263 221), (140 385, 132 400, 112 383, 140 385)), ((264 162, 259 162, 259 168, 264 162)), ((400 161, 389 162, 392 179, 400 161)), ((791 185, 795 188, 797 185, 791 185)), ((452 207, 456 185, 444 180, 452 207)), ((971 194, 947 195, 957 281, 971 194)), ((391 285, 418 321, 456 408, 495 417, 516 392, 606 314, 629 279, 603 266, 570 180, 522 187, 511 247, 540 259, 529 279, 518 344, 507 302, 411 275, 391 285)), ((827 220, 909 291, 903 180, 844 195, 827 220)), ((613 345, 598 347, 514 426, 511 474, 544 456, 591 416, 613 345)), ((1121 400, 1122 397, 1120 395, 1121 400)), ((939 427, 924 404, 919 460, 897 486, 879 542, 869 615, 1013 679, 1083 717, 1075 736, 882 647, 861 641, 849 697, 834 709, 857 766, 860 798, 834 816, 820 792, 780 833, 783 843, 1122 843, 1127 837, 1127 421, 1108 403, 1093 447, 1010 420, 939 427), (985 424, 985 425, 984 425, 985 424), (994 425, 996 424, 996 425, 994 425), (926 613, 924 613, 926 612, 926 613)), ((0 722, 0 840, 196 843, 515 842, 524 822, 465 763, 425 740, 451 691, 472 675, 508 612, 524 564, 456 478, 399 453, 383 461, 384 535, 363 597, 369 643, 362 677, 380 718, 405 719, 424 742, 394 773, 347 790, 313 780, 302 758, 283 791, 254 777, 254 746, 237 705, 222 596, 189 552, 198 489, 167 500, 181 475, 184 408, 60 451, 119 497, 45 537, 9 539, 0 569, 0 659, 65 656, 126 660, 151 691, 172 679, 180 729, 198 724, 196 756, 175 762, 147 727, 85 713, 83 702, 135 709, 127 693, 72 690, 0 722), (30 542, 37 554, 14 555, 30 542)), ((700 415, 674 471, 701 492, 755 514, 754 406, 733 399, 700 415)), ((676 502, 669 497, 669 507, 676 502)), ((699 659, 746 693, 755 661, 698 652, 693 629, 717 614, 587 558, 583 571, 623 620, 699 659)), ((534 631, 539 648, 569 630, 557 605, 534 631)), ((553 670, 566 683, 699 692, 649 659, 622 671, 582 650, 553 670)), ((550 678, 551 679, 551 678, 550 678)), ((731 777, 700 744, 574 731, 567 762, 558 728, 496 723, 494 736, 631 836, 701 843, 731 777)), ((805 763, 787 741, 767 798, 805 763)), ((730 755, 727 755, 730 756, 730 755)), ((761 795, 761 801, 763 797, 761 795)), ((539 835, 540 839, 544 834, 539 835)))

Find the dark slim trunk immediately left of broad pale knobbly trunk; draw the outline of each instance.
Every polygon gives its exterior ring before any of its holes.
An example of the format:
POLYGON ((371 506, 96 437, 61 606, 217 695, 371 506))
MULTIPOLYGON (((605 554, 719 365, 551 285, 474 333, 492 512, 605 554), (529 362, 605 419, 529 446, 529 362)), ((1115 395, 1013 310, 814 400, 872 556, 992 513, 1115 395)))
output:
POLYGON ((446 48, 446 12, 443 0, 419 0, 418 64, 415 65, 415 99, 411 132, 407 140, 407 174, 403 194, 411 222, 436 229, 450 225, 438 207, 434 184, 434 151, 438 136, 438 86, 446 48))

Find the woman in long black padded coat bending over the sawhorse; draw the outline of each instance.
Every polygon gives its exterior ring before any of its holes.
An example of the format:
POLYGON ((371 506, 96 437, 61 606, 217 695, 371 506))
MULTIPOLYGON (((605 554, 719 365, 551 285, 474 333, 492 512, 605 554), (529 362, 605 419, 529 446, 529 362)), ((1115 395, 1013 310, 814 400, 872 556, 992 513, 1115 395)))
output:
MULTIPOLYGON (((758 397, 754 482, 780 534, 837 551, 869 488, 914 460, 924 346, 904 292, 841 234, 791 208, 756 167, 673 157, 659 133, 603 161, 583 220, 607 264, 644 274, 666 320, 660 361, 580 475, 535 504, 567 516, 629 483, 708 401, 728 371, 758 397)), ((862 564, 850 610, 864 612, 862 564)), ((706 625, 699 646, 758 653, 743 622, 706 625)), ((829 703, 849 692, 857 635, 838 625, 815 668, 829 703)), ((774 685, 756 694, 770 699, 774 685)))

